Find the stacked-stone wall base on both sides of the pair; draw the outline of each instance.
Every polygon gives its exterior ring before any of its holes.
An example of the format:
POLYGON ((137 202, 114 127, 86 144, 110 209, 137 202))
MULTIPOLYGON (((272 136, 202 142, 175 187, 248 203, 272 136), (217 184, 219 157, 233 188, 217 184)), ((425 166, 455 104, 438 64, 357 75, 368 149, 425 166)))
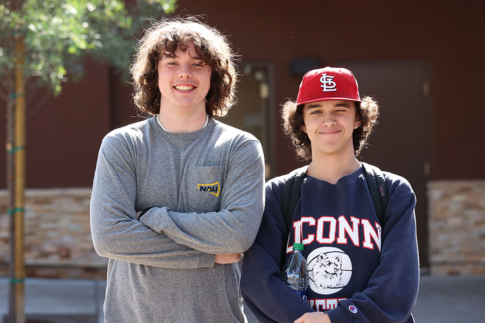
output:
MULTIPOLYGON (((431 274, 485 274, 485 181, 428 184, 431 274)), ((107 259, 94 251, 91 188, 28 189, 27 277, 104 278, 107 259)), ((8 195, 0 190, 0 276, 8 276, 8 195)))

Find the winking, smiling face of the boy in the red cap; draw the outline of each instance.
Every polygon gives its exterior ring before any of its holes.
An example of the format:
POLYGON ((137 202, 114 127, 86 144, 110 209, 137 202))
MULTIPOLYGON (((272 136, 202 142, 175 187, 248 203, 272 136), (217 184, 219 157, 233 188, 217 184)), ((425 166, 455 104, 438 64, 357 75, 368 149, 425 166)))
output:
POLYGON ((312 159, 324 155, 354 156, 352 133, 360 125, 353 101, 328 100, 303 107, 302 130, 311 141, 312 159))

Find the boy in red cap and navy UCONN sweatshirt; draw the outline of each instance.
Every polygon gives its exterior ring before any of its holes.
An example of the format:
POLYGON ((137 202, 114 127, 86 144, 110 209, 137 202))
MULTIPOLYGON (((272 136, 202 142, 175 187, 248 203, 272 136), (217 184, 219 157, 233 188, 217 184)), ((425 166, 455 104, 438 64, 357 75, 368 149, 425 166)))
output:
POLYGON ((244 254, 241 290, 258 322, 414 322, 419 284, 414 207, 401 176, 383 172, 388 204, 380 224, 356 159, 376 123, 377 103, 360 99, 351 71, 309 71, 296 102, 282 108, 285 133, 310 161, 290 232, 281 191, 290 174, 266 184, 264 215, 244 254), (309 288, 304 300, 281 281, 282 245, 304 244, 309 288), (285 240, 286 241, 286 240, 285 240))

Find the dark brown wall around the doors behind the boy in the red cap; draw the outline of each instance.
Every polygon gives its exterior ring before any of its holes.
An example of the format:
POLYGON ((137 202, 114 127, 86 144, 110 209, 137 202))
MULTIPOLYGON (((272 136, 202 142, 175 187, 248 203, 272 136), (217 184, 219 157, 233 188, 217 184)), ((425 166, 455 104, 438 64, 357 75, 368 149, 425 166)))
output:
POLYGON ((290 74, 290 61, 310 57, 322 66, 343 60, 430 62, 431 177, 485 178, 485 146, 477 135, 485 119, 483 1, 179 0, 178 8, 207 15, 211 26, 229 35, 242 62, 274 64, 276 174, 293 169, 295 160, 278 114, 286 98, 296 98, 301 81, 290 74))

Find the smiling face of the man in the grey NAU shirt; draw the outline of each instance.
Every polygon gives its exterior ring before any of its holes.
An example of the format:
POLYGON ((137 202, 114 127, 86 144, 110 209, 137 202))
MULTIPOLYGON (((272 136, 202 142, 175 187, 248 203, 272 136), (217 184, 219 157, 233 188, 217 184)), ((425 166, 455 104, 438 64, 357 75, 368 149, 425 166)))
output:
POLYGON ((192 42, 185 52, 178 47, 172 55, 164 53, 158 64, 160 108, 205 111, 211 73, 212 68, 198 57, 192 42))

